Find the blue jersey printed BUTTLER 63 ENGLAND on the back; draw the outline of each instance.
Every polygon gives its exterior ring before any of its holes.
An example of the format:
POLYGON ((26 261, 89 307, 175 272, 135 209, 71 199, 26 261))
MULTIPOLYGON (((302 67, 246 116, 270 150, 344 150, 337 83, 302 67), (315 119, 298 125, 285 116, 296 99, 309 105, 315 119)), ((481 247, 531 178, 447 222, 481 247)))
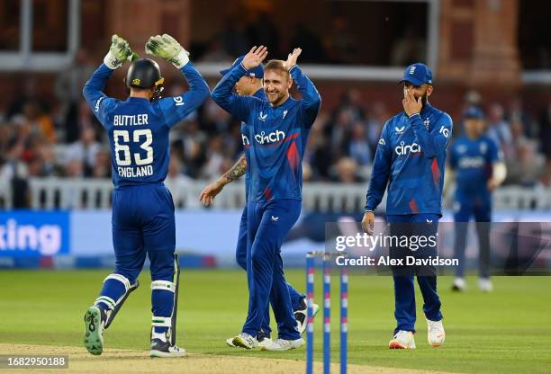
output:
POLYGON ((102 64, 86 82, 83 94, 107 130, 115 188, 162 183, 170 158, 168 131, 209 97, 209 87, 191 62, 181 68, 189 91, 154 102, 129 97, 120 101, 102 90, 113 70, 102 64))

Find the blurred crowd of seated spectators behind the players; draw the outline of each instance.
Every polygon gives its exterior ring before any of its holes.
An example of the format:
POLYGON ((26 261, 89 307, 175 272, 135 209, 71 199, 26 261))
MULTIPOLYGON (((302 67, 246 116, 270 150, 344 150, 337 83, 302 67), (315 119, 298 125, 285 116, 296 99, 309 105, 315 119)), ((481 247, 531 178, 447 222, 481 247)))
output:
MULTIPOLYGON (((32 79, 0 108, 0 175, 12 181, 14 206, 26 206, 24 189, 29 177, 109 178, 111 164, 104 129, 81 96, 82 85, 94 67, 79 62, 59 74, 57 104, 50 106, 35 95, 32 79), (23 195, 22 195, 23 194, 23 195)), ((215 82, 212 82, 212 87, 215 82)), ((185 87, 168 85, 165 95, 185 87)), ((465 95, 464 106, 481 105, 488 134, 501 145, 508 166, 506 183, 550 185, 551 103, 539 113, 528 113, 521 99, 506 106, 484 103, 480 94, 465 95)), ((322 111, 312 127, 303 161, 304 180, 339 183, 369 178, 379 133, 392 113, 384 102, 365 102, 360 91, 348 90, 332 111, 322 111)), ((461 133, 456 118, 454 136, 461 133)), ((239 121, 211 99, 171 133, 169 177, 212 180, 230 168, 242 153, 239 121)))

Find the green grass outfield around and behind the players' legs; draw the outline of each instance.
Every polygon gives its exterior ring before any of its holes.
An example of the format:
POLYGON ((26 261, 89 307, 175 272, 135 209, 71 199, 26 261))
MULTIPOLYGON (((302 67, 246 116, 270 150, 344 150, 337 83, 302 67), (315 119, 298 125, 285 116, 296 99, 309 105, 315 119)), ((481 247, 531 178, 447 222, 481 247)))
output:
MULTIPOLYGON (((80 346, 82 316, 94 301, 108 271, 2 271, 0 342, 80 346)), ((317 273, 319 274, 319 272, 317 273)), ((287 272, 297 289, 304 273, 287 272)), ((390 351, 393 330, 392 280, 351 276, 349 285, 349 362, 470 373, 544 373, 551 371, 551 277, 495 278, 495 291, 483 294, 474 278, 465 294, 452 293, 452 278, 439 280, 447 339, 429 347, 418 295, 417 350, 390 351)), ((321 276, 316 300, 321 304, 321 276)), ((149 349, 149 274, 106 332, 107 347, 149 349)), ((333 279, 333 361, 339 361, 338 278, 333 279)), ((204 355, 304 360, 305 350, 247 352, 224 343, 238 334, 247 310, 245 273, 189 271, 181 276, 178 343, 204 355)), ((274 325, 274 324, 272 324, 274 325)), ((84 348, 83 348, 84 350, 84 348)), ((316 355, 321 361, 321 317, 316 322, 316 355)))

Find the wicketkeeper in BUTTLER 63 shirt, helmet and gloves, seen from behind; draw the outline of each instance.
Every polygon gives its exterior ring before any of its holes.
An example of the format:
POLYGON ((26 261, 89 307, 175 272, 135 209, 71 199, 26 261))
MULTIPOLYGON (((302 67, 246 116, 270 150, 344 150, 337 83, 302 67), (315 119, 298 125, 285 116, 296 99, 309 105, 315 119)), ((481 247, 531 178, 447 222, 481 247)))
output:
POLYGON ((176 311, 179 265, 175 253, 174 204, 163 183, 169 161, 169 130, 209 97, 203 76, 188 53, 171 36, 149 38, 146 52, 167 59, 185 76, 189 91, 160 99, 164 78, 148 58, 132 62, 126 75, 130 97, 120 101, 102 90, 113 70, 132 56, 126 40, 113 35, 104 63, 86 82, 86 102, 109 137, 113 167, 113 248, 115 270, 104 280, 100 296, 85 315, 84 343, 98 355, 104 349, 104 329, 132 290, 149 257, 151 272, 151 357, 179 357, 176 311))

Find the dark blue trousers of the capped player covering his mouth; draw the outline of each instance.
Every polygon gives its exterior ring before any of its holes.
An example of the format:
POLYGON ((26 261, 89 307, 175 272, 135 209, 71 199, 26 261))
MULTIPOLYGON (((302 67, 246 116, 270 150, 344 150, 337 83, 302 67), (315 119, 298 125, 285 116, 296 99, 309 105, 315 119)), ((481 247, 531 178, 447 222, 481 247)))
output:
MULTIPOLYGON (((434 236, 438 231, 437 214, 388 215, 386 219, 390 224, 392 236, 434 236)), ((405 253, 417 258, 434 257, 437 254, 437 248, 427 244, 411 251, 410 245, 410 248, 391 247, 390 252, 392 257, 401 257, 405 253)), ((397 324, 394 334, 400 330, 415 332, 415 275, 423 296, 425 316, 431 321, 442 319, 436 269, 432 267, 420 269, 413 266, 393 268, 394 317, 397 324)))

